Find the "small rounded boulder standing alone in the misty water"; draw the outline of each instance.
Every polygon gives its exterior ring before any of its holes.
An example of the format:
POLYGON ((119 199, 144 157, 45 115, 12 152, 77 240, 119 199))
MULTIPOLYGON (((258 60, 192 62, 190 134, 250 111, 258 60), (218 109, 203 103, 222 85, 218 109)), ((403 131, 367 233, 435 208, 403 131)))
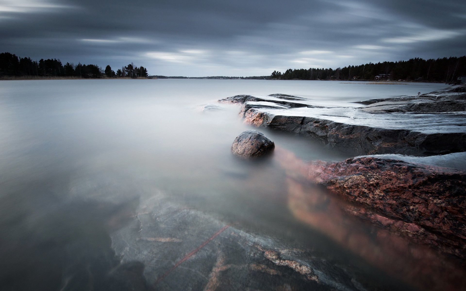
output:
POLYGON ((267 155, 272 152, 274 148, 274 142, 257 130, 243 131, 235 138, 232 144, 233 154, 242 159, 251 159, 267 155))

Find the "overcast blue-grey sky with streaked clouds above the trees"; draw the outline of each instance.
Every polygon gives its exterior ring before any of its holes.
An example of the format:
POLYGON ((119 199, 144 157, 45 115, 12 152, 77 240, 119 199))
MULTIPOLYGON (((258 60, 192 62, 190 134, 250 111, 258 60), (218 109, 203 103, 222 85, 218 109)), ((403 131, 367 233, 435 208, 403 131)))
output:
POLYGON ((461 0, 0 0, 0 51, 149 74, 288 68, 466 54, 461 0))

